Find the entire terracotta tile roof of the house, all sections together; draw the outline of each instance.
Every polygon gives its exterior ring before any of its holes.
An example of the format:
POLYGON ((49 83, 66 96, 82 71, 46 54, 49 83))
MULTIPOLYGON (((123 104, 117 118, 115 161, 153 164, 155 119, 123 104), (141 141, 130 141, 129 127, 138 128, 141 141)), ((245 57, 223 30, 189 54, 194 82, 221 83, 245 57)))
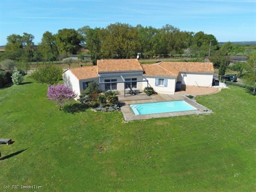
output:
POLYGON ((97 60, 96 66, 70 68, 78 79, 98 77, 98 72, 143 71, 150 76, 178 76, 182 72, 214 72, 212 63, 161 62, 157 64, 140 64, 137 59, 97 60))

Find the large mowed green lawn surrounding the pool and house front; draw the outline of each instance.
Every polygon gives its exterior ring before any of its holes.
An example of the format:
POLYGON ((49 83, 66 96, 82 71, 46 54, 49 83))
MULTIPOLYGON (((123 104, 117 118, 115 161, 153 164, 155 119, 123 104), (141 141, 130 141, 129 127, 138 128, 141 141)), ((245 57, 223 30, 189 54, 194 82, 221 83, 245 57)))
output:
POLYGON ((0 191, 256 191, 256 97, 246 89, 196 97, 214 114, 129 123, 121 112, 58 111, 46 94, 29 77, 0 89, 0 137, 15 141, 0 145, 0 191))

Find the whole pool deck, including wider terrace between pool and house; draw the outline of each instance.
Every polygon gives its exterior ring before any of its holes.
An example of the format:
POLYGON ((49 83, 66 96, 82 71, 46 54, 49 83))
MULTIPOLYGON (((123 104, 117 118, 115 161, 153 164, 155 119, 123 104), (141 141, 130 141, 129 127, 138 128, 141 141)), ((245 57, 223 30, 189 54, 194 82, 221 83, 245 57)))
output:
POLYGON ((151 118, 164 118, 164 117, 174 117, 174 116, 183 116, 183 115, 201 115, 201 114, 210 114, 213 113, 211 110, 206 107, 196 103, 195 100, 189 99, 184 95, 170 95, 170 94, 157 94, 152 96, 147 96, 145 94, 134 95, 130 97, 119 97, 119 102, 121 102, 121 110, 124 115, 125 121, 134 121, 134 120, 145 120, 151 118), (188 104, 195 107, 197 110, 192 111, 183 111, 183 112, 172 112, 172 113, 158 113, 158 114, 149 114, 149 115, 134 115, 130 104, 138 103, 153 103, 161 101, 177 101, 184 100, 188 104))

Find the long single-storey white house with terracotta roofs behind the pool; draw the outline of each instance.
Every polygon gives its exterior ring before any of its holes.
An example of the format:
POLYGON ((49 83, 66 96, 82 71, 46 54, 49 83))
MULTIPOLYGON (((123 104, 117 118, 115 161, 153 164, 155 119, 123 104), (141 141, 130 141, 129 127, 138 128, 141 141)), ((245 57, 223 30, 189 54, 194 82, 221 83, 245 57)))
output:
POLYGON ((137 59, 97 60, 96 66, 69 68, 64 83, 78 94, 95 81, 103 91, 142 90, 147 86, 156 92, 174 94, 176 84, 211 87, 212 63, 161 62, 140 64, 137 59))

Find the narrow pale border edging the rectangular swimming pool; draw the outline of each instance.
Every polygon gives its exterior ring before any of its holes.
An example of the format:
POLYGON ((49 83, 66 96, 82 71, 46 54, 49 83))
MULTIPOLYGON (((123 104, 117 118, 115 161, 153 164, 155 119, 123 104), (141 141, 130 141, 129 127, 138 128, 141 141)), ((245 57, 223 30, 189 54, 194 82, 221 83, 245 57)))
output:
MULTIPOLYGON (((125 105, 121 107, 121 111, 124 116, 124 120, 126 122, 128 121, 135 121, 135 120, 146 120, 146 119, 152 119, 152 118, 164 118, 164 117, 176 117, 176 116, 184 116, 184 115, 201 115, 201 114, 210 114, 213 113, 211 110, 207 109, 203 105, 198 104, 195 100, 189 99, 188 97, 184 95, 179 95, 177 98, 175 98, 175 95, 172 95, 171 100, 165 100, 165 101, 177 101, 177 100, 183 100, 196 108, 197 110, 191 110, 191 111, 181 111, 181 112, 171 112, 171 113, 158 113, 158 114, 148 114, 148 115, 134 115, 132 110, 130 109, 129 105, 134 104, 130 103, 129 101, 124 102, 125 105)), ((140 100, 136 102, 136 104, 139 103, 154 103, 158 102, 154 99, 148 99, 148 100, 140 100)), ((161 102, 161 101, 159 101, 161 102)))

